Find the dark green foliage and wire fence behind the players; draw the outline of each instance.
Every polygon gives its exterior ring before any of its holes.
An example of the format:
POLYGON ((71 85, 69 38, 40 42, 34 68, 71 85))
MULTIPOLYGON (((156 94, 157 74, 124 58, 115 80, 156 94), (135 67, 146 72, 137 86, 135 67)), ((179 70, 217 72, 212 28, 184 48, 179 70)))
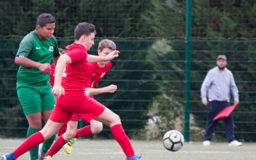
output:
MULTIPOLYGON (((118 92, 96 99, 121 116, 129 136, 155 139, 170 129, 182 131, 185 6, 184 0, 0 0, 0 136, 26 134, 13 60, 20 40, 35 29, 36 17, 43 12, 56 17, 54 35, 60 47, 72 43, 74 27, 83 21, 97 27, 95 44, 102 38, 116 42, 120 57, 99 87, 117 84, 118 92)), ((255 141, 256 2, 194 0, 192 7, 191 140, 204 135, 206 108, 200 103, 200 85, 216 56, 226 54, 241 99, 234 112, 236 137, 255 141)), ((217 133, 216 139, 225 138, 223 123, 217 133)), ((99 136, 109 137, 109 129, 99 136)))

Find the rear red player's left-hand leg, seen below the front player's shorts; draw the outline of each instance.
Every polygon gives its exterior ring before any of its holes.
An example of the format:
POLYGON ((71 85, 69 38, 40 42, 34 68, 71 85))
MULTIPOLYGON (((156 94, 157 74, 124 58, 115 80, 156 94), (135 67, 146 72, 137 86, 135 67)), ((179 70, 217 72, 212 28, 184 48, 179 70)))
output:
POLYGON ((76 135, 77 121, 69 121, 67 125, 67 131, 62 134, 48 150, 45 157, 46 159, 51 159, 54 154, 56 154, 71 138, 76 135))

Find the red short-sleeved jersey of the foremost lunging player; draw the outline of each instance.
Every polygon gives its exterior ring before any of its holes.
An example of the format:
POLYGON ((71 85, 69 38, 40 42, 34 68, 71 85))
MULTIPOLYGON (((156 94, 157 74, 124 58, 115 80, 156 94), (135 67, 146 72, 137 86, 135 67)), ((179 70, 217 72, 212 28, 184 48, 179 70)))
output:
MULTIPOLYGON (((88 55, 81 44, 70 44, 66 47, 66 53, 72 63, 67 64, 65 68, 66 77, 63 77, 61 86, 65 90, 65 95, 79 97, 85 94, 85 87, 90 76, 88 76, 88 55)), ((77 98, 78 98, 77 97, 77 98)))

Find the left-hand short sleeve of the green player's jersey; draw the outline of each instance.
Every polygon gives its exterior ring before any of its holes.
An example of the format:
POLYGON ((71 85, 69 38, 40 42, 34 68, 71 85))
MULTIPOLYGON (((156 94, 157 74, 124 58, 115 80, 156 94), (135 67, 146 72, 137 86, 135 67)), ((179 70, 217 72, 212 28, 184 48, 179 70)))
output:
POLYGON ((33 49, 35 37, 29 33, 20 42, 19 49, 17 51, 17 57, 28 57, 29 53, 33 49))

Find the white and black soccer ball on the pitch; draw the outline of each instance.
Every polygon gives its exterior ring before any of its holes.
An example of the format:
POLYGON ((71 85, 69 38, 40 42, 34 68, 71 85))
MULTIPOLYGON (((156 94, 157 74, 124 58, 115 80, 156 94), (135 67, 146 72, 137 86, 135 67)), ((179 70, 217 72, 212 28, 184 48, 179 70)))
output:
POLYGON ((176 130, 168 131, 163 137, 164 148, 176 152, 184 145, 184 136, 176 130))

